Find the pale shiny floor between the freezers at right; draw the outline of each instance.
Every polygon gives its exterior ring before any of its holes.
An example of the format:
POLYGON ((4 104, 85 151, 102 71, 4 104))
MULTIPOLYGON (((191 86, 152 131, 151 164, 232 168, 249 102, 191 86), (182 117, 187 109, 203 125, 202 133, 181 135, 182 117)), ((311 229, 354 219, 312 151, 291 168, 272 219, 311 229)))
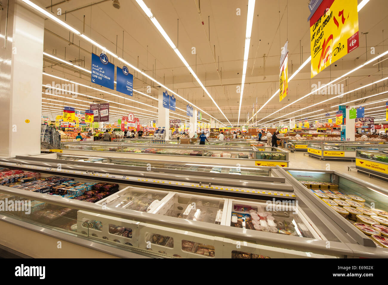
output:
MULTIPOLYGON (((287 151, 287 149, 284 149, 287 151)), ((349 176, 356 177, 360 180, 369 182, 376 186, 388 189, 388 181, 384 181, 378 178, 369 178, 367 174, 357 172, 356 169, 348 171, 348 166, 355 166, 355 162, 341 161, 341 160, 319 160, 319 158, 309 157, 304 151, 295 151, 289 154, 289 167, 300 169, 326 169, 330 167, 331 170, 347 174, 349 176)))

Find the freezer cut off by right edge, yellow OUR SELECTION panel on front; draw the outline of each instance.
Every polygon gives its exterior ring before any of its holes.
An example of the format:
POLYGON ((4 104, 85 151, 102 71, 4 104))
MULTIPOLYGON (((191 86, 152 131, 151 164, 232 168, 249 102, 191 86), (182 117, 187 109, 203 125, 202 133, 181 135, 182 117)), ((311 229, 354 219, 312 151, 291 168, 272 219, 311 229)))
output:
POLYGON ((388 149, 384 151, 357 150, 356 169, 369 176, 388 179, 388 149))

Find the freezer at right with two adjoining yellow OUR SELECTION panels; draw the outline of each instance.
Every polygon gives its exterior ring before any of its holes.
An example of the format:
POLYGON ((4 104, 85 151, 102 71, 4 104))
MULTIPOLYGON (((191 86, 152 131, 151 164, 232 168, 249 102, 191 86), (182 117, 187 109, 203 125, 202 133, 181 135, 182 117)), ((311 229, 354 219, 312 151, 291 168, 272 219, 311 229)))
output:
POLYGON ((388 150, 386 144, 371 143, 308 143, 307 153, 309 156, 319 159, 342 159, 355 160, 356 150, 388 150))

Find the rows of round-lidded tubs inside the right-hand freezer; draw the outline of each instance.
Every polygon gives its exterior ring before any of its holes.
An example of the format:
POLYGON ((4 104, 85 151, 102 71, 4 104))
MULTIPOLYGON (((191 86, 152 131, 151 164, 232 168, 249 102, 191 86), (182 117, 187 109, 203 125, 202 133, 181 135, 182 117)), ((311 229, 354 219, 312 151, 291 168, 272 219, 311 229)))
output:
POLYGON ((327 207, 331 207, 331 209, 344 217, 346 221, 352 223, 362 233, 369 236, 376 244, 376 247, 388 248, 388 212, 368 207, 365 205, 364 198, 357 195, 346 195, 344 191, 338 190, 338 186, 331 185, 333 184, 331 182, 330 184, 316 181, 300 182, 317 195, 327 207), (319 185, 319 188, 311 188, 313 185, 319 185), (331 186, 334 187, 331 188, 331 186), (334 198, 331 195, 340 199, 334 198))

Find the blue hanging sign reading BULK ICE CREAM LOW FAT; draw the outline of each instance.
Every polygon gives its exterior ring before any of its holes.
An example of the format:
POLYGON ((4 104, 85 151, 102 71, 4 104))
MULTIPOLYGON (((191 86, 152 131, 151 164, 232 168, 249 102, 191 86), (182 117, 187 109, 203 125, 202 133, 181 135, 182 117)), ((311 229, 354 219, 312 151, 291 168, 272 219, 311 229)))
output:
POLYGON ((110 63, 106 54, 92 53, 92 83, 114 90, 114 64, 110 63))

